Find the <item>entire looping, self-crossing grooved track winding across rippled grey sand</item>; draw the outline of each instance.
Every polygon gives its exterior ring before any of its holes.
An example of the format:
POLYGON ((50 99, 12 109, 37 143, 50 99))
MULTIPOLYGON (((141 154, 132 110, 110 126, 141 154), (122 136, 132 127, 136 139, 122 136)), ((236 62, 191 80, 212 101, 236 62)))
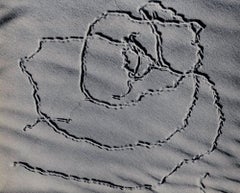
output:
MULTIPOLYGON (((107 11, 103 13, 100 17, 96 18, 92 23, 89 24, 88 28, 86 29, 86 33, 84 36, 65 36, 65 37, 43 37, 40 39, 38 43, 37 49, 30 54, 29 56, 26 56, 19 61, 19 67, 23 74, 28 78, 30 85, 32 86, 32 95, 33 99, 35 102, 35 108, 36 112, 38 114, 38 119, 33 123, 33 124, 27 124, 24 127, 24 131, 27 131, 28 129, 34 128, 38 123, 43 122, 46 123, 54 132, 57 134, 60 134, 64 136, 65 138, 75 141, 75 142, 85 142, 88 143, 94 147, 97 147, 102 150, 106 151, 124 151, 124 150, 134 150, 136 148, 144 147, 144 148, 154 148, 154 147, 162 147, 164 144, 168 143, 173 136, 175 136, 177 133, 184 132, 187 126, 189 125, 189 121, 191 118, 191 115, 194 111, 194 108, 197 106, 197 101, 198 101, 198 95, 199 95, 199 88, 201 84, 207 84, 209 87, 209 90, 212 93, 212 99, 213 99, 213 105, 215 106, 216 109, 216 115, 218 118, 218 126, 216 128, 216 136, 212 140, 212 145, 211 147, 206 150, 203 153, 196 154, 192 158, 186 158, 177 163, 173 169, 166 175, 164 175, 158 182, 158 185, 161 185, 166 182, 167 178, 173 175, 175 172, 177 172, 181 167, 184 165, 187 165, 189 163, 194 163, 197 160, 202 159, 205 155, 210 155, 217 147, 218 145, 218 140, 219 137, 222 134, 222 128, 223 124, 225 121, 224 113, 222 110, 222 105, 220 103, 220 97, 218 94, 218 91, 215 87, 215 83, 210 79, 210 77, 205 74, 200 72, 200 68, 203 65, 202 60, 204 57, 204 49, 203 46, 200 43, 200 32, 204 29, 205 25, 199 21, 199 20, 191 20, 185 18, 184 15, 178 14, 174 9, 172 8, 166 8, 164 7, 161 2, 155 2, 155 1, 150 1, 147 3, 145 6, 142 6, 139 9, 139 14, 141 15, 140 18, 133 17, 130 13, 124 12, 124 11, 107 11), (156 6, 157 8, 160 8, 161 11, 169 14, 171 16, 171 19, 163 19, 159 18, 157 16, 157 13, 155 12, 153 16, 150 16, 148 13, 146 7, 148 5, 151 6, 156 6), (107 19, 109 16, 117 16, 117 17, 124 17, 125 19, 137 23, 139 25, 141 24, 147 24, 153 36, 155 37, 156 44, 155 44, 155 50, 156 50, 156 55, 152 56, 149 53, 147 53, 146 48, 144 45, 140 45, 135 39, 133 34, 129 34, 128 39, 122 39, 122 40, 115 40, 112 37, 108 37, 107 35, 103 33, 93 33, 93 29, 97 23, 101 23, 102 20, 107 19), (174 69, 169 62, 164 58, 163 55, 163 47, 162 44, 164 42, 164 39, 162 38, 161 32, 158 31, 157 25, 161 25, 163 27, 166 26, 177 26, 177 27, 186 27, 191 33, 192 33, 192 42, 191 44, 194 46, 196 49, 196 60, 194 64, 189 68, 186 69, 185 71, 181 72, 176 69, 174 69), (88 52, 88 41, 89 40, 94 40, 94 39, 99 39, 101 41, 107 42, 111 45, 114 46, 119 46, 122 47, 122 58, 123 62, 125 62, 124 66, 126 67, 125 70, 129 70, 129 80, 128 82, 128 90, 126 93, 122 94, 121 96, 115 96, 118 99, 123 99, 125 96, 127 96, 134 85, 135 81, 138 81, 139 79, 143 79, 144 76, 147 74, 150 74, 153 69, 157 69, 159 71, 167 71, 172 75, 175 75, 177 77, 177 80, 173 82, 172 85, 167 85, 162 88, 158 89, 147 89, 146 91, 143 91, 139 94, 137 98, 131 101, 127 102, 122 102, 122 103, 111 103, 109 101, 104 101, 101 99, 94 98, 89 90, 87 89, 87 86, 85 85, 85 76, 87 74, 87 57, 86 53, 88 52), (131 40, 131 41, 130 41, 131 40), (111 108, 115 110, 121 110, 123 108, 130 108, 132 106, 137 105, 140 102, 143 102, 144 97, 150 97, 153 95, 160 95, 164 92, 174 92, 179 88, 179 85, 184 83, 184 80, 187 78, 192 78, 193 80, 193 93, 191 97, 191 101, 189 103, 189 106, 186 110, 186 113, 182 119, 182 124, 178 126, 177 128, 174 129, 172 133, 170 133, 168 136, 165 138, 158 140, 158 141, 142 141, 138 140, 132 144, 123 144, 123 145, 107 145, 104 143, 101 143, 97 141, 96 139, 88 138, 88 137, 83 137, 83 136, 76 136, 74 134, 69 133, 67 130, 64 128, 61 128, 58 125, 58 122, 65 122, 66 124, 71 122, 70 118, 53 118, 51 115, 48 115, 47 113, 43 112, 41 108, 41 96, 39 94, 39 85, 38 83, 34 80, 33 75, 31 72, 28 71, 26 67, 26 62, 29 62, 32 60, 38 53, 41 52, 43 49, 44 43, 51 42, 51 43, 56 43, 56 42, 62 42, 62 43, 67 43, 67 42, 72 42, 72 41, 79 41, 82 42, 82 49, 80 52, 80 68, 81 68, 81 74, 79 77, 79 84, 80 84, 80 90, 82 93, 86 96, 86 100, 96 104, 100 105, 106 108, 111 108), (138 57, 138 64, 134 71, 131 71, 128 66, 129 60, 127 56, 127 52, 131 51, 132 53, 136 54, 138 57), (146 58, 150 65, 145 69, 144 73, 142 75, 137 74, 139 65, 140 65, 140 60, 141 58, 146 58)), ((117 185, 114 184, 110 181, 103 181, 103 180, 97 180, 97 179, 89 179, 85 177, 78 177, 74 176, 71 174, 65 174, 62 172, 58 171, 51 171, 51 170, 46 170, 43 168, 39 167, 34 167, 31 166, 27 162, 22 162, 22 161, 16 161, 14 162, 14 166, 20 166, 25 168, 28 171, 34 172, 34 173, 39 173, 44 176, 56 176, 63 178, 65 180, 71 180, 71 181, 77 181, 77 182, 84 182, 84 183, 90 183, 90 184, 99 184, 99 185, 104 185, 108 186, 110 188, 114 189, 121 189, 121 190, 134 190, 134 189, 149 189, 151 190, 152 185, 139 185, 135 187, 129 187, 129 186, 123 186, 123 185, 117 185)), ((205 177, 204 177, 205 178, 205 177)), ((202 185, 201 181, 201 185, 202 185)), ((202 191, 204 192, 205 190, 203 189, 204 186, 201 187, 202 191)))

